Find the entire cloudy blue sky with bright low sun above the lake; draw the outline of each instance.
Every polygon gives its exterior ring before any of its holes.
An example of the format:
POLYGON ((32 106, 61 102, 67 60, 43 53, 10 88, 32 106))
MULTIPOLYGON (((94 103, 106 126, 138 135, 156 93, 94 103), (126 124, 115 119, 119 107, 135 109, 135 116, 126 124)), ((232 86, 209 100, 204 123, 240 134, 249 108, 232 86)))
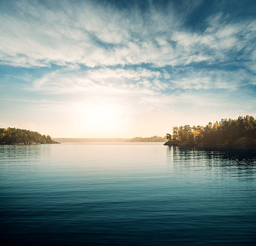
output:
POLYGON ((0 1, 0 106, 51 137, 256 117, 256 1, 0 1))

